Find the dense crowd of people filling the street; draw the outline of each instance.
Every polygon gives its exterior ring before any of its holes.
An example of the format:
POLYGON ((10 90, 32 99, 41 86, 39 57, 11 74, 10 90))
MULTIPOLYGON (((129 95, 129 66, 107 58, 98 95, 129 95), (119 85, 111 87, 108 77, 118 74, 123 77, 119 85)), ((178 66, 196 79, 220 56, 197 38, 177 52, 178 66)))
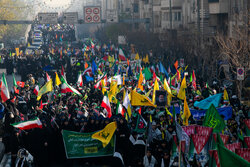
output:
MULTIPOLYGON (((45 38, 47 38, 47 34, 53 36, 56 31, 59 31, 53 29, 55 27, 42 30, 45 38)), ((60 30, 60 37, 51 37, 48 40, 49 43, 42 47, 43 54, 34 53, 33 55, 23 54, 18 57, 10 57, 9 53, 6 52, 5 57, 2 57, 5 60, 6 68, 11 68, 10 73, 15 68, 17 74, 21 75, 21 81, 25 82, 24 87, 18 87, 19 94, 11 91, 10 99, 3 102, 1 106, 4 108, 3 143, 5 153, 11 153, 12 164, 15 164, 18 150, 25 148, 34 156, 34 166, 50 166, 53 164, 60 164, 61 166, 117 166, 113 157, 67 159, 61 134, 62 130, 82 133, 95 132, 103 129, 110 122, 116 121, 115 152, 121 154, 124 166, 178 166, 178 156, 173 157, 173 135, 176 134, 175 120, 173 119, 173 113, 166 112, 166 108, 170 111, 170 106, 175 106, 182 110, 183 101, 178 100, 175 96, 172 98, 170 105, 166 104, 162 107, 132 106, 130 117, 126 114, 116 113, 118 101, 121 104, 123 103, 124 91, 137 90, 143 95, 149 92, 148 98, 152 99, 153 91, 151 90, 154 88, 153 80, 155 78, 152 76, 146 80, 143 85, 144 91, 141 91, 137 87, 138 78, 135 76, 140 75, 140 69, 154 65, 150 60, 148 62, 134 61, 134 58, 132 60, 130 56, 132 52, 128 48, 124 50, 128 62, 126 60, 124 61, 126 63, 121 64, 119 49, 115 45, 99 44, 97 41, 89 40, 81 47, 74 47, 70 45, 70 42, 67 44, 63 41, 60 42, 62 36, 66 37, 68 36, 67 33, 72 31, 74 31, 73 27, 67 26, 67 32, 60 30), (112 55, 114 61, 109 58, 112 55), (72 57, 75 58, 74 61, 72 57), (132 61, 135 62, 134 65, 132 61), (79 72, 83 72, 91 65, 93 66, 93 62, 98 64, 97 71, 95 74, 84 74, 82 76, 83 85, 78 85, 79 72), (71 92, 61 93, 59 85, 54 86, 53 91, 44 94, 41 100, 37 101, 37 96, 33 91, 36 85, 40 85, 41 88, 46 83, 46 73, 54 80, 55 72, 64 76, 68 83, 75 87, 82 96, 71 92), (101 75, 106 74, 107 78, 111 78, 119 73, 124 74, 125 79, 124 83, 117 87, 118 91, 114 97, 116 103, 111 100, 112 117, 108 118, 106 110, 101 107, 104 97, 103 88, 96 88, 95 85, 101 75), (85 75, 88 76, 85 77, 85 75), (89 77, 93 80, 89 80, 89 77), (36 117, 41 120, 42 129, 19 130, 11 125, 36 117), (140 122, 140 120, 143 121, 140 122), (145 130, 139 131, 138 126, 145 126, 145 130), (148 140, 149 131, 151 140, 148 140)), ((153 73, 159 77, 160 75, 165 77, 157 70, 153 73)), ((187 80, 186 96, 189 108, 195 108, 193 106, 195 101, 200 101, 221 91, 215 85, 209 86, 206 83, 199 83, 198 80, 196 82, 200 86, 195 89, 192 82, 187 80)), ((110 82, 107 82, 106 90, 110 89, 110 84, 110 82)), ((173 92, 177 88, 178 82, 171 87, 173 92)), ((164 90, 163 84, 160 84, 160 90, 164 90)), ((233 110, 232 117, 225 120, 226 128, 223 132, 229 135, 228 143, 243 142, 240 136, 247 135, 244 119, 249 118, 249 107, 242 105, 236 96, 230 97, 227 102, 221 100, 220 107, 223 106, 231 106, 233 110)), ((191 116, 188 121, 189 125, 202 125, 203 118, 197 120, 191 116)), ((176 114, 176 121, 183 125, 181 114, 176 114)), ((191 159, 189 158, 187 162, 190 166, 208 166, 208 161, 202 164, 195 155, 191 159)))

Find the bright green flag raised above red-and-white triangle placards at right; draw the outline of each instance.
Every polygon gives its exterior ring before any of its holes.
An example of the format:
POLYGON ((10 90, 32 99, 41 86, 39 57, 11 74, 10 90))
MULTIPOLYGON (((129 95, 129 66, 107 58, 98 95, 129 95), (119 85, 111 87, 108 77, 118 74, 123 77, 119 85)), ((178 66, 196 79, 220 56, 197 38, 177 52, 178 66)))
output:
POLYGON ((225 122, 216 110, 213 104, 210 105, 206 112, 203 126, 212 127, 214 132, 221 132, 225 128, 225 122))

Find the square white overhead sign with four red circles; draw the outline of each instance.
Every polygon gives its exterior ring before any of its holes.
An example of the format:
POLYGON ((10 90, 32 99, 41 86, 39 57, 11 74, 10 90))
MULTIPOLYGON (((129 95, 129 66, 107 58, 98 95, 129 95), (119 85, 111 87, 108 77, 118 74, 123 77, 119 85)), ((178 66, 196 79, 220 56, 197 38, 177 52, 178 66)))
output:
POLYGON ((84 7, 84 22, 85 23, 100 23, 101 22, 101 7, 100 6, 85 6, 84 7))

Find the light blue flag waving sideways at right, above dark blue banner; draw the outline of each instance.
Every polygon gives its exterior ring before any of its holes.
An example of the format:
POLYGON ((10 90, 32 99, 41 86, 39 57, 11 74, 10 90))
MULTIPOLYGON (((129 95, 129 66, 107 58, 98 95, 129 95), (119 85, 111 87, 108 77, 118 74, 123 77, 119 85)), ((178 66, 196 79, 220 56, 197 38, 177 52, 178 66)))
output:
POLYGON ((222 93, 219 93, 219 94, 210 96, 204 100, 196 101, 194 103, 194 106, 203 110, 207 110, 211 104, 213 104, 215 107, 218 107, 220 104, 221 96, 222 96, 222 93))

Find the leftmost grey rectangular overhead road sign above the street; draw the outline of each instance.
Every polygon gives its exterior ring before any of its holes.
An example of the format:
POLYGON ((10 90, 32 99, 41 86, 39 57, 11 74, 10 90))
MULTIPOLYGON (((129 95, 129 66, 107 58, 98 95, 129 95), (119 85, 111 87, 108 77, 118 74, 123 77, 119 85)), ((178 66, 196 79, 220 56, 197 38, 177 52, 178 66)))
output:
POLYGON ((58 13, 38 13, 38 20, 40 24, 57 24, 58 13))

